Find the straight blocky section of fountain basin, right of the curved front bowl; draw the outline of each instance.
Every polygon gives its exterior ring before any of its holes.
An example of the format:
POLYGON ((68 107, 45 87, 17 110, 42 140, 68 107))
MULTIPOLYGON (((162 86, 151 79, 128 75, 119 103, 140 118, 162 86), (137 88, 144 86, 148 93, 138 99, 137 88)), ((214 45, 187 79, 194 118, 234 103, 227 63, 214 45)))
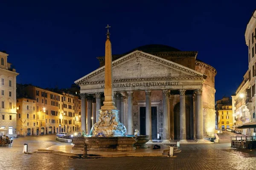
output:
POLYGON ((135 150, 135 143, 137 142, 137 137, 135 136, 119 136, 117 141, 117 150, 135 150))

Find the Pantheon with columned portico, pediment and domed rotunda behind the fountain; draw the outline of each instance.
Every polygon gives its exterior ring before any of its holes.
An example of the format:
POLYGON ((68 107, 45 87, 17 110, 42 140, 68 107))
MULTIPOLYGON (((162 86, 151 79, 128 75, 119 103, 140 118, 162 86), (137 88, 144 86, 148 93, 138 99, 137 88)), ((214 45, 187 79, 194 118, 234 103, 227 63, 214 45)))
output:
MULTIPOLYGON (((197 54, 144 45, 112 55, 113 100, 127 134, 138 129, 153 140, 186 142, 214 133, 217 72, 197 54)), ((105 57, 97 59, 100 67, 75 82, 81 87, 81 124, 88 134, 104 101, 105 57)))

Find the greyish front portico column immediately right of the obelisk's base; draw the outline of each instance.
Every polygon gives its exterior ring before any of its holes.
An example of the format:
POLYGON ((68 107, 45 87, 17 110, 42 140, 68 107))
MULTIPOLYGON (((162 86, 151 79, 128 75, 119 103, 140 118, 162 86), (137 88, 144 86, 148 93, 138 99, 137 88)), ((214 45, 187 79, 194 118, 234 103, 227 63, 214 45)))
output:
POLYGON ((128 135, 134 134, 133 132, 133 91, 127 91, 128 94, 128 135))

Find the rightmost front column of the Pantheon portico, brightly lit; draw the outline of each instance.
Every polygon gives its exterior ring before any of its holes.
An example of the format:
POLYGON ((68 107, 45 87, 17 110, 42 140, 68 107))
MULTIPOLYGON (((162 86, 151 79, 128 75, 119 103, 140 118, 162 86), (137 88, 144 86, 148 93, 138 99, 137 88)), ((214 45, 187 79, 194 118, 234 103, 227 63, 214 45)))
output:
POLYGON ((204 141, 202 93, 201 89, 196 91, 196 139, 198 142, 204 141))

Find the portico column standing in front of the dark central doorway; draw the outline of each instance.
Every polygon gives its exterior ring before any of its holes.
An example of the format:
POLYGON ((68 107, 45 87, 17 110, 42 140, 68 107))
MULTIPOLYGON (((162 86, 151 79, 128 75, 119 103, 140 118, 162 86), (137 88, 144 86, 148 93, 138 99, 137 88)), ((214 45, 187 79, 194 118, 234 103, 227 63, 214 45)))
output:
POLYGON ((149 142, 152 142, 151 131, 151 91, 146 90, 146 135, 149 136, 149 142))

